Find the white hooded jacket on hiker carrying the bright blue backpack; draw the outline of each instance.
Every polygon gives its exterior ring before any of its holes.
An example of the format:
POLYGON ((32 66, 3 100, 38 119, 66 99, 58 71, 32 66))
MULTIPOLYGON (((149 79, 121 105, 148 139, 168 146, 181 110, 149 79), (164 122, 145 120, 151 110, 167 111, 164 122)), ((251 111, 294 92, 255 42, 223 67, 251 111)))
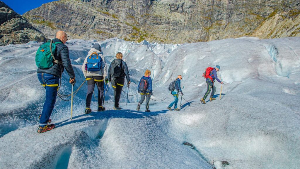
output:
POLYGON ((107 78, 106 62, 105 62, 104 56, 100 51, 98 51, 95 48, 91 48, 91 50, 88 51, 88 55, 85 57, 85 60, 82 64, 81 68, 82 68, 82 72, 83 72, 83 75, 85 78, 86 78, 86 76, 103 76, 104 79, 107 78), (98 54, 98 56, 100 56, 102 59, 101 70, 98 72, 89 72, 89 71, 85 70, 85 64, 86 64, 86 61, 88 60, 88 57, 91 56, 91 54, 94 52, 96 52, 98 54))

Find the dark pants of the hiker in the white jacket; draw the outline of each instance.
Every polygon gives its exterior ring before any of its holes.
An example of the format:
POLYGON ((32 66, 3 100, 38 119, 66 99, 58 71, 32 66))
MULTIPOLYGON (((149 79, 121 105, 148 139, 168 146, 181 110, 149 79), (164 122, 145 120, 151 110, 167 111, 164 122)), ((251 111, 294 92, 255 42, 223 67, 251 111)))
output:
POLYGON ((88 81, 88 92, 86 93, 86 101, 85 106, 91 106, 91 100, 95 88, 95 84, 98 88, 98 106, 102 106, 103 103, 103 93, 104 93, 104 82, 103 76, 86 76, 86 80, 88 81))

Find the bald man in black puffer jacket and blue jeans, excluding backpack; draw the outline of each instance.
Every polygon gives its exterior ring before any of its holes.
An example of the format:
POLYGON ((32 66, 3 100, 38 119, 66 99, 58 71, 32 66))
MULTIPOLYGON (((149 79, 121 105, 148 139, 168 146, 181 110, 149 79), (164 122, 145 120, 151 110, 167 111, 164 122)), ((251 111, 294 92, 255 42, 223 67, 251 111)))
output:
POLYGON ((59 83, 59 78, 61 73, 66 69, 68 75, 70 76, 70 83, 75 84, 75 73, 69 58, 69 49, 66 45, 68 36, 64 31, 58 31, 56 33, 56 38, 52 40, 52 43, 56 45, 56 51, 53 53, 55 60, 53 61, 53 66, 49 69, 38 68, 38 79, 41 85, 46 89, 46 100, 44 103, 42 114, 40 117, 40 124, 38 127, 38 133, 44 133, 46 131, 52 130, 55 124, 51 124, 51 113, 54 108, 54 104, 57 96, 57 88, 59 83))

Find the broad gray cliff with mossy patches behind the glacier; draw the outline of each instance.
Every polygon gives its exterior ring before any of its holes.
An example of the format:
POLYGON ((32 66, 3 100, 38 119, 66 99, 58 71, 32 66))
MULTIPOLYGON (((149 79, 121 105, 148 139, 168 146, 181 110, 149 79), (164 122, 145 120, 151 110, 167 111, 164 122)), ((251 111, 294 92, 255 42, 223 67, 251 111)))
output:
POLYGON ((300 36, 299 0, 60 0, 24 14, 48 36, 184 43, 300 36))

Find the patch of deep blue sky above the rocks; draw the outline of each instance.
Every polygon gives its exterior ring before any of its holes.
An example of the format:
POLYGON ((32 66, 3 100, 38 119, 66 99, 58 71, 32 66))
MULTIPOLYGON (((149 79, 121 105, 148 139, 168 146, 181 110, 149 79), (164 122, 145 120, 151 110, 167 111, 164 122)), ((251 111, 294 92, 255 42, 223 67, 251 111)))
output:
POLYGON ((34 8, 40 7, 42 4, 55 0, 1 0, 18 14, 24 14, 34 8))

